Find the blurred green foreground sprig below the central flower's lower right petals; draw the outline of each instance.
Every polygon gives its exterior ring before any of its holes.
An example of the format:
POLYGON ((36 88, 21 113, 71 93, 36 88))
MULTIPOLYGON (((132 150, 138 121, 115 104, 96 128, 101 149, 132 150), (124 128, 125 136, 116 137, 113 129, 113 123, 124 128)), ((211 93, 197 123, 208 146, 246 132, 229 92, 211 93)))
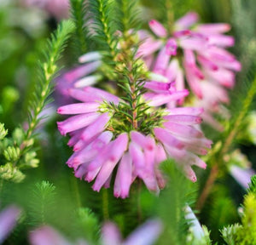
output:
POLYGON ((188 225, 183 208, 195 202, 196 185, 184 177, 173 160, 162 162, 160 167, 169 180, 157 205, 158 214, 166 226, 160 244, 186 244, 188 225))

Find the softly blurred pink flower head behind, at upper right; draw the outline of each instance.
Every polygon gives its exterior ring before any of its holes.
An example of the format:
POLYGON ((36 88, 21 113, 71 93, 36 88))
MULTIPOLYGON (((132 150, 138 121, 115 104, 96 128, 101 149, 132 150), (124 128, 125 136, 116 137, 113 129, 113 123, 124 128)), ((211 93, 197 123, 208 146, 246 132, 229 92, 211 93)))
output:
MULTIPOLYGON (((175 81, 177 90, 185 88, 186 78, 189 88, 197 97, 195 106, 203 106, 202 117, 214 128, 221 126, 212 117, 213 112, 221 112, 219 103, 228 103, 225 88, 233 88, 234 71, 241 70, 241 64, 225 48, 234 45, 233 37, 224 35, 230 25, 197 24, 198 15, 188 13, 172 26, 172 33, 157 20, 149 22, 148 31, 139 31, 143 40, 137 56, 143 57, 146 65, 154 73, 163 75, 168 82, 175 81), (156 59, 154 54, 158 52, 156 59)), ((171 26, 170 26, 171 29, 171 26)), ((179 105, 183 100, 177 101, 179 105)))

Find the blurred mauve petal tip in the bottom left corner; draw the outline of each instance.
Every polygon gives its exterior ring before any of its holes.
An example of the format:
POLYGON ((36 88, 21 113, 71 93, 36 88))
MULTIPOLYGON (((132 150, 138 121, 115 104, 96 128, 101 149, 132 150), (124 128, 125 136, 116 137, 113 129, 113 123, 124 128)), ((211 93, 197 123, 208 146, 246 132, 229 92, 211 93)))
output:
POLYGON ((15 228, 20 212, 20 208, 9 206, 0 213, 0 244, 2 244, 9 233, 15 228))

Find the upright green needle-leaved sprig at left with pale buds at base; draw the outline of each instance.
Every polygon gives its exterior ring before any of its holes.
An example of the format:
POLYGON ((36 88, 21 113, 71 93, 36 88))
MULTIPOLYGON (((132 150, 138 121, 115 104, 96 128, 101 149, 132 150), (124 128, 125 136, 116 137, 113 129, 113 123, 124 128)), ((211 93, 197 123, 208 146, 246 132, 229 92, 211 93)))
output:
MULTIPOLYGON (((50 82, 55 78, 60 68, 56 62, 61 59, 61 53, 67 45, 67 39, 70 37, 74 26, 71 20, 66 20, 61 23, 55 35, 52 35, 51 41, 48 41, 47 47, 44 50, 44 62, 39 63, 38 83, 36 90, 31 100, 29 108, 29 126, 24 133, 21 128, 15 128, 12 138, 1 143, 1 151, 6 164, 1 166, 1 178, 20 182, 25 178, 25 175, 20 172, 21 168, 36 168, 38 167, 38 159, 36 158, 34 145, 34 130, 42 119, 40 113, 44 110, 44 106, 49 102, 49 94, 52 92, 50 82)), ((8 90, 8 96, 16 98, 13 90, 8 90)), ((13 100, 9 100, 13 101, 13 100)), ((10 106, 10 105, 9 105, 10 106)), ((5 131, 2 134, 4 135, 5 131)))

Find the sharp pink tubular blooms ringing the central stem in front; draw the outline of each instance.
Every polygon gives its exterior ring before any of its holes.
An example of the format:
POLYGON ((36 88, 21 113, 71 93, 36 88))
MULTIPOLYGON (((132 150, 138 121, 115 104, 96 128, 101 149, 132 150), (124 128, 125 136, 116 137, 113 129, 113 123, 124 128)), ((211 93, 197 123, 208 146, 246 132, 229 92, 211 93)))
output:
MULTIPOLYGON (((158 84, 150 82, 150 86, 156 89, 154 92, 157 94, 158 84)), ((159 96, 169 96, 174 101, 183 98, 180 96, 182 91, 170 93, 159 96)), ((196 128, 201 123, 201 108, 163 110, 162 122, 152 129, 151 134, 145 135, 139 130, 116 134, 112 124, 115 112, 111 103, 119 106, 121 100, 118 97, 92 87, 83 90, 71 88, 69 94, 83 103, 61 106, 57 110, 60 114, 73 115, 57 122, 61 134, 71 135, 67 145, 73 146, 75 151, 67 165, 74 169, 77 178, 88 182, 95 179, 94 191, 100 191, 102 186, 108 188, 113 169, 117 168, 113 186, 115 197, 128 197, 136 178, 143 179, 149 191, 158 193, 166 184, 158 166, 167 157, 174 158, 179 168, 193 181, 196 177, 191 165, 206 168, 206 163, 197 155, 206 155, 212 142, 196 128)), ((148 105, 163 104, 156 102, 161 100, 156 100, 155 94, 148 105)))

